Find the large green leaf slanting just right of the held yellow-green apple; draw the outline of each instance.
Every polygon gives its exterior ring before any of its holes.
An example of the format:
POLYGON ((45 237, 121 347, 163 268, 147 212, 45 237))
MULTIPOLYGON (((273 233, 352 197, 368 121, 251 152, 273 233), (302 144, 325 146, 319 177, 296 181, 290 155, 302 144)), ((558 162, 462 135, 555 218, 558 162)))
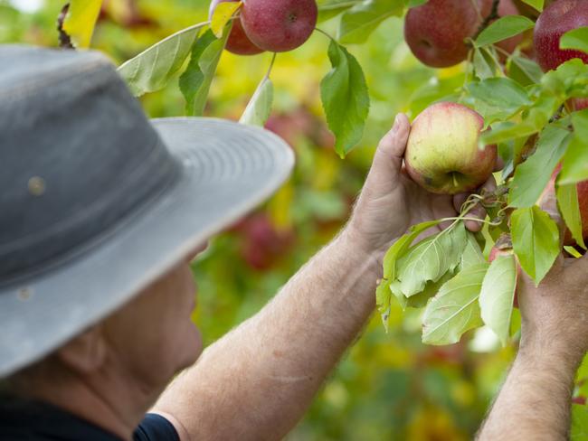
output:
POLYGON ((536 144, 536 152, 517 166, 508 193, 510 205, 518 208, 535 205, 555 166, 564 156, 570 139, 570 132, 559 124, 545 127, 536 144))

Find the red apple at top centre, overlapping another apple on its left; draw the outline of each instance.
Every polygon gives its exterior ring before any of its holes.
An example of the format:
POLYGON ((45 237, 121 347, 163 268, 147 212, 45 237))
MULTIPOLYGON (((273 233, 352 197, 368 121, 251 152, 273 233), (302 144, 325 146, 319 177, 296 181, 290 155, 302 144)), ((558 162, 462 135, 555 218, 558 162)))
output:
POLYGON ((287 52, 308 40, 317 24, 315 0, 247 0, 241 21, 256 46, 270 52, 287 52))

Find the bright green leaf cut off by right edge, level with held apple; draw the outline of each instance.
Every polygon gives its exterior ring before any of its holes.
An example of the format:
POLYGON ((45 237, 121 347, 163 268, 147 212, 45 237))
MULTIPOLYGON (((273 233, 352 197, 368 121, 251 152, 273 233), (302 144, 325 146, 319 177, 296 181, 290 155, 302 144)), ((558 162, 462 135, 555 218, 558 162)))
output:
POLYGON ((572 114, 574 138, 564 156, 560 183, 579 183, 588 179, 588 108, 572 114))

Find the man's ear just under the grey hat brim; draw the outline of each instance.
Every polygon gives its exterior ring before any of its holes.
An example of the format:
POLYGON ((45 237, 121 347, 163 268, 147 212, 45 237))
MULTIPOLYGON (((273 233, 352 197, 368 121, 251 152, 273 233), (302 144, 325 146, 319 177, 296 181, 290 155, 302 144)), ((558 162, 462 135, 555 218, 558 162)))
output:
POLYGON ((81 374, 99 370, 106 361, 106 354, 107 342, 101 324, 75 336, 57 351, 63 364, 81 374))

